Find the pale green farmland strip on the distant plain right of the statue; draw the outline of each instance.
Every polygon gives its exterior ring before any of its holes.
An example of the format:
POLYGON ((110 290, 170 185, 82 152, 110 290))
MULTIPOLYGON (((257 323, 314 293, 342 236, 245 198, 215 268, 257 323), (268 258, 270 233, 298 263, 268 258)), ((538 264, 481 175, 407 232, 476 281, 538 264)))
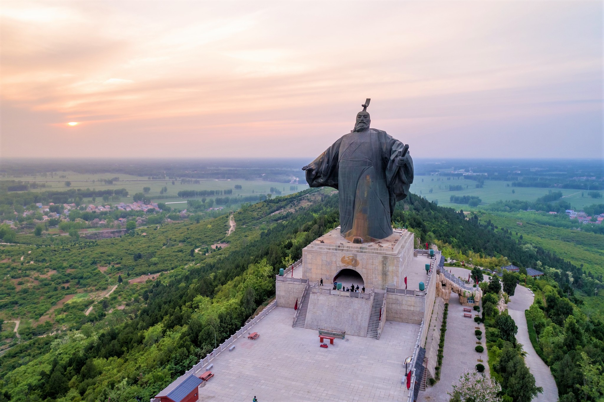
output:
MULTIPOLYGON (((484 180, 482 188, 476 188, 475 180, 466 180, 463 177, 447 177, 440 176, 416 176, 411 185, 411 192, 426 197, 429 201, 438 200, 439 205, 451 206, 453 208, 462 208, 464 211, 474 210, 467 204, 456 204, 449 201, 451 196, 477 196, 483 201, 482 205, 497 202, 499 200, 523 200, 536 201, 539 197, 544 196, 549 190, 562 191, 563 200, 570 202, 574 209, 582 209, 585 205, 596 203, 597 200, 587 196, 587 191, 566 189, 566 188, 542 188, 542 187, 511 187, 512 182, 500 180, 484 180), (449 185, 461 185, 461 191, 449 191, 449 185), (506 187, 510 185, 510 187, 506 187), (467 187, 467 188, 466 188, 467 187), (430 193, 432 189, 432 193, 430 193), (512 193, 512 190, 515 193, 512 193)), ((480 208, 480 207, 478 207, 480 208)))

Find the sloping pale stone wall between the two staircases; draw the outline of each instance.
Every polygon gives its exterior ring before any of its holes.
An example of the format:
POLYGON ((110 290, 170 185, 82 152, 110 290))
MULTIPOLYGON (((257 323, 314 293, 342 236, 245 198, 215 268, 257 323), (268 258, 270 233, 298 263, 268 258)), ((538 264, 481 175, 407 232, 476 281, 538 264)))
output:
POLYGON ((346 331, 347 335, 367 336, 372 301, 310 293, 304 328, 346 331))

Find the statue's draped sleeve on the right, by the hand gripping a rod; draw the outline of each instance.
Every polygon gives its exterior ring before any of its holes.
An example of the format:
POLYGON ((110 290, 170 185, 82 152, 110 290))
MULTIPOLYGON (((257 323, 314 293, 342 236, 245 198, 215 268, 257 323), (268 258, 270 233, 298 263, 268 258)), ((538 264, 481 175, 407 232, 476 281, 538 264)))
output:
POLYGON ((413 183, 413 159, 409 152, 403 156, 405 144, 387 135, 385 152, 389 155, 386 179, 388 190, 394 196, 395 202, 403 200, 409 194, 409 188, 413 183), (403 163, 397 164, 396 159, 403 156, 403 163))

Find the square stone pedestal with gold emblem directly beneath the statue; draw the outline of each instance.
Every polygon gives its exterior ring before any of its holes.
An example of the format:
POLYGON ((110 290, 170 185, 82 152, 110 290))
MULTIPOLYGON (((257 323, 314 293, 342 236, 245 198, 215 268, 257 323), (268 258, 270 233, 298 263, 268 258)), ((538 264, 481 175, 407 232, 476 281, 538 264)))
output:
POLYGON ((404 278, 413 258, 413 233, 395 230, 390 237, 355 244, 333 229, 302 250, 302 277, 310 282, 323 278, 330 286, 344 269, 361 275, 365 289, 405 287, 404 278))

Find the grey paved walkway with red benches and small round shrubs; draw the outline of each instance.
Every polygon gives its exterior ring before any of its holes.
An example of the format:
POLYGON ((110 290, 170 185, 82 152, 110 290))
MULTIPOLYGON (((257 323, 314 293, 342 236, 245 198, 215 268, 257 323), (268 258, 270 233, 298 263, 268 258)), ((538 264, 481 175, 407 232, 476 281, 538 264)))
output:
MULTIPOLYGON (((453 390, 452 385, 457 383, 461 374, 466 371, 476 371, 479 358, 484 360, 485 372, 489 372, 484 337, 482 343, 484 352, 478 353, 474 350, 477 341, 474 336, 475 327, 480 327, 484 333, 484 325, 475 323, 473 318, 464 317, 463 307, 459 302, 459 295, 451 293, 440 381, 432 387, 426 385, 426 391, 419 393, 417 398, 419 401, 449 402, 451 397, 447 392, 453 390)), ((475 311, 472 311, 472 316, 475 315, 475 311)))

